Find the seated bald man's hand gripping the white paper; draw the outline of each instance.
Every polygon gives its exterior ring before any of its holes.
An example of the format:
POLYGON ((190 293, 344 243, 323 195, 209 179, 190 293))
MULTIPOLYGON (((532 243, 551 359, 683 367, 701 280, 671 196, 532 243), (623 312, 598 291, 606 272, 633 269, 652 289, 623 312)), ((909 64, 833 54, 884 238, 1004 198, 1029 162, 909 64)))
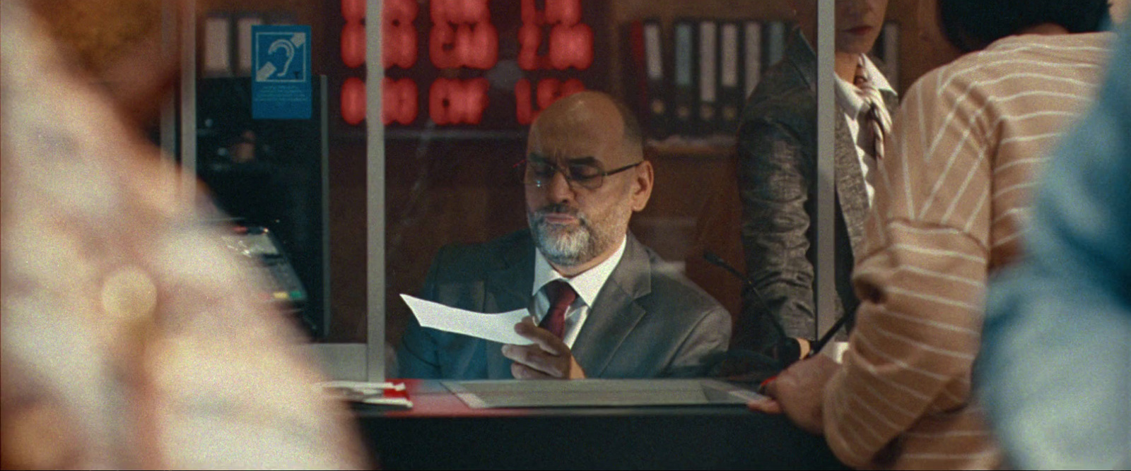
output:
POLYGON ((502 355, 515 360, 510 373, 519 380, 580 380, 585 377, 581 366, 562 339, 534 324, 533 317, 524 317, 515 324, 515 332, 534 343, 528 346, 504 344, 502 355))

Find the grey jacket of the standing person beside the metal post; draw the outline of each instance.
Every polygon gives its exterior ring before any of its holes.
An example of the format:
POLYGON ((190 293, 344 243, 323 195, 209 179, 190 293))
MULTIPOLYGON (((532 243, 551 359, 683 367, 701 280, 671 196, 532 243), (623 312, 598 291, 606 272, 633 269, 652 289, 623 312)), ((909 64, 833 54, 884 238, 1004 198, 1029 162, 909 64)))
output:
MULTIPOLYGON (((765 315, 788 337, 813 339, 813 265, 817 216, 817 56, 796 30, 784 59, 750 95, 739 129, 742 243, 750 280, 765 305, 746 296, 735 323, 734 347, 761 350, 776 337, 765 315), (768 311, 768 312, 767 312, 768 311)), ((884 93, 889 110, 896 97, 884 93)), ((848 123, 837 105, 836 287, 837 316, 860 300, 851 276, 863 251, 867 193, 848 123)), ((822 332, 823 333, 823 332, 822 332)))

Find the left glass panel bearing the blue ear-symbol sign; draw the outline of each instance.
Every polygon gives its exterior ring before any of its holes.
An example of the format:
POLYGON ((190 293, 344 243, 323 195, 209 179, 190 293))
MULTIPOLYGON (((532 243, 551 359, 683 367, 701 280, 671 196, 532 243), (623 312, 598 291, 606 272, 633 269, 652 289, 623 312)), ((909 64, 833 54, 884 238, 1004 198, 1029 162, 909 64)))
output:
POLYGON ((268 281, 264 299, 312 341, 364 342, 364 212, 355 208, 365 207, 366 137, 346 85, 364 77, 364 60, 351 53, 356 29, 342 29, 356 26, 364 1, 322 3, 165 2, 174 16, 197 16, 192 30, 166 32, 189 41, 196 61, 183 67, 192 85, 180 97, 195 106, 180 106, 180 131, 165 132, 196 134, 179 152, 233 227, 228 245, 271 246, 248 255, 268 281), (257 43, 268 34, 278 37, 257 43))

